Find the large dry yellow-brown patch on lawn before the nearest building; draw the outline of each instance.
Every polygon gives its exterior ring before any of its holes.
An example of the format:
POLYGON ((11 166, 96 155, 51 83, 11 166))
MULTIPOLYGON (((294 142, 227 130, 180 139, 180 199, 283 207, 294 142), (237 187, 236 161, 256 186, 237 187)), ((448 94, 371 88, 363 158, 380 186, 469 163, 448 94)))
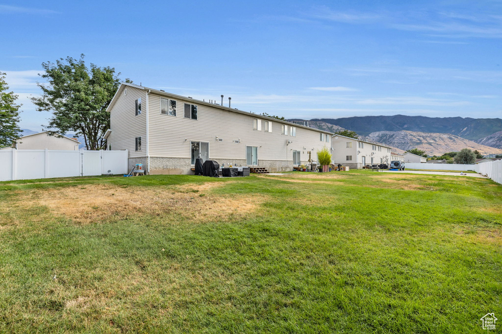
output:
POLYGON ((213 195, 210 190, 223 183, 178 187, 127 187, 86 185, 31 191, 18 203, 26 208, 46 206, 55 215, 80 223, 123 219, 137 215, 172 214, 188 220, 226 220, 254 212, 264 196, 213 195))

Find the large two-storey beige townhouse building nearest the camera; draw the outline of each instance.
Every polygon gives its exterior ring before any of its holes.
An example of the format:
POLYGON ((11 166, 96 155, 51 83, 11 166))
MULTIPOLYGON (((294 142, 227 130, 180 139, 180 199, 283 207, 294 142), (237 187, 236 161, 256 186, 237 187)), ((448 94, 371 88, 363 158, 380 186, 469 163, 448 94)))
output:
POLYGON ((195 159, 225 166, 292 171, 308 151, 329 148, 332 133, 216 103, 121 83, 107 111, 108 149, 129 150, 129 164, 150 174, 191 174, 195 159))

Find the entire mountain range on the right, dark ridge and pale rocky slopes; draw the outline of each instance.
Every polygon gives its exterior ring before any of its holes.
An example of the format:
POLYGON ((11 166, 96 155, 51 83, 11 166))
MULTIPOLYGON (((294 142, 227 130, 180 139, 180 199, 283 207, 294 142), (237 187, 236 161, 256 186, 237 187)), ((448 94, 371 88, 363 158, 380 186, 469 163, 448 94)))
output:
POLYGON ((502 119, 426 116, 355 116, 294 119, 295 123, 336 132, 355 131, 360 137, 399 149, 420 148, 441 155, 462 148, 492 156, 502 153, 502 119), (302 123, 303 122, 303 123, 302 123))

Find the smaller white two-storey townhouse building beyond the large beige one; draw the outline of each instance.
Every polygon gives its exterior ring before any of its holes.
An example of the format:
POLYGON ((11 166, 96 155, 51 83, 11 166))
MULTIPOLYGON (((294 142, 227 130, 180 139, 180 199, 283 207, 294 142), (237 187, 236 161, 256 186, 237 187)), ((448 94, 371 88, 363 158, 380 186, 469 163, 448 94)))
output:
POLYGON ((334 134, 331 138, 332 158, 335 164, 341 163, 356 169, 364 165, 391 161, 390 146, 339 134, 334 134))

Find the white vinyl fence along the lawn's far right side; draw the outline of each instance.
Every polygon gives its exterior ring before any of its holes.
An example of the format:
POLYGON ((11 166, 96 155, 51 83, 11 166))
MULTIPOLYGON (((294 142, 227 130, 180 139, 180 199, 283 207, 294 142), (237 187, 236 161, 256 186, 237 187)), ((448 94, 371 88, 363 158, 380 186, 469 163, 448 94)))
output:
POLYGON ((406 162, 405 167, 411 170, 474 171, 486 175, 498 184, 502 184, 502 160, 487 161, 478 164, 406 162))

